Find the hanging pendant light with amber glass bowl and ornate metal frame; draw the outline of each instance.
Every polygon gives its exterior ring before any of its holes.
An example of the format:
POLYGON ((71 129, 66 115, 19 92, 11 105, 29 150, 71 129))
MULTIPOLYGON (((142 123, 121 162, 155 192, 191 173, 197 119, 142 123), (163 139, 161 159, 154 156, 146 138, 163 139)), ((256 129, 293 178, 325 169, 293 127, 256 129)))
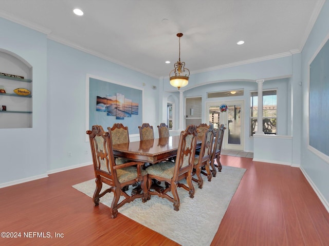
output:
POLYGON ((189 76, 190 70, 185 68, 185 63, 180 61, 180 37, 182 37, 182 33, 177 33, 177 37, 179 38, 179 56, 177 63, 174 64, 173 70, 170 71, 170 85, 177 87, 178 90, 180 87, 187 86, 189 84, 189 76))

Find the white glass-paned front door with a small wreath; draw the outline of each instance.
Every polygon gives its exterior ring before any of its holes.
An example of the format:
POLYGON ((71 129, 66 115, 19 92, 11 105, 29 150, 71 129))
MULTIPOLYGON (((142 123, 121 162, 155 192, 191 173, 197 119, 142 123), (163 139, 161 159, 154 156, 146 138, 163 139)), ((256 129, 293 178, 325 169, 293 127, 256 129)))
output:
POLYGON ((206 107, 209 123, 213 123, 215 128, 224 124, 226 128, 222 148, 243 151, 244 101, 215 101, 207 103, 206 107), (226 111, 222 109, 224 107, 221 108, 222 105, 227 106, 226 111))

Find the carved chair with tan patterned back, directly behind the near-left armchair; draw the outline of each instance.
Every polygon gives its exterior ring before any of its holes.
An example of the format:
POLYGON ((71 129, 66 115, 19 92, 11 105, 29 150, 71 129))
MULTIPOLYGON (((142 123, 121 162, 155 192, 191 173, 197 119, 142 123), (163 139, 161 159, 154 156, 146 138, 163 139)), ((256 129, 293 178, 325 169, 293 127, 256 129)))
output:
MULTIPOLYGON (((123 144, 124 142, 129 142, 129 131, 128 127, 123 126, 121 123, 115 123, 113 124, 113 127, 107 128, 108 132, 111 133, 112 138, 112 144, 123 144)), ((129 162, 130 160, 121 158, 121 157, 115 157, 115 163, 116 165, 129 162)))

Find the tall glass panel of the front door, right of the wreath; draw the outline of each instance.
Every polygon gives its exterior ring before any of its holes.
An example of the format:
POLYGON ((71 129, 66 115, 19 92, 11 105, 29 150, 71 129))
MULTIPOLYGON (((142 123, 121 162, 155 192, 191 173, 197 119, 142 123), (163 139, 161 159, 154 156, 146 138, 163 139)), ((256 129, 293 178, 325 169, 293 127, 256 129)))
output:
POLYGON ((227 106, 228 144, 241 145, 241 105, 227 106))

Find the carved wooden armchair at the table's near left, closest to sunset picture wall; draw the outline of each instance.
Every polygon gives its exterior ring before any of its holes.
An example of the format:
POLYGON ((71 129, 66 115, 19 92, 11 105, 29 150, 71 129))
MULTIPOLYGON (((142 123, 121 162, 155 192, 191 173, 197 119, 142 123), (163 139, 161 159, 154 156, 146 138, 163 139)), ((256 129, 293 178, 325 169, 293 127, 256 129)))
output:
MULTIPOLYGON (((111 131, 111 129, 109 130, 111 131)), ((144 162, 132 161, 116 165, 113 156, 112 138, 110 132, 104 132, 101 126, 93 126, 92 130, 86 132, 89 135, 90 148, 92 149, 94 171, 96 176, 96 189, 93 200, 95 206, 99 205, 99 199, 106 193, 113 192, 113 200, 109 211, 112 218, 116 218, 118 209, 125 203, 136 198, 148 199, 147 172, 142 170, 144 162), (135 185, 140 182, 141 193, 129 194, 124 189, 126 186, 135 185), (110 186, 101 192, 103 183, 110 186), (123 197, 123 199, 119 199, 123 197)))

